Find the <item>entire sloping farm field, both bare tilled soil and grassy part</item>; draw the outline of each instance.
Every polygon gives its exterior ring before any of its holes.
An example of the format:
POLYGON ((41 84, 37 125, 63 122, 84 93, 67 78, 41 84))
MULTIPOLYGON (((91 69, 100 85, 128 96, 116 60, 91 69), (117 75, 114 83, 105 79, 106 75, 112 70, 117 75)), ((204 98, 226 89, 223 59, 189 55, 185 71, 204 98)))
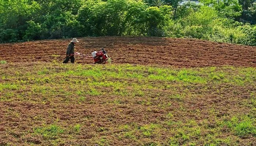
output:
POLYGON ((154 37, 0 44, 0 146, 255 146, 256 47, 154 37))

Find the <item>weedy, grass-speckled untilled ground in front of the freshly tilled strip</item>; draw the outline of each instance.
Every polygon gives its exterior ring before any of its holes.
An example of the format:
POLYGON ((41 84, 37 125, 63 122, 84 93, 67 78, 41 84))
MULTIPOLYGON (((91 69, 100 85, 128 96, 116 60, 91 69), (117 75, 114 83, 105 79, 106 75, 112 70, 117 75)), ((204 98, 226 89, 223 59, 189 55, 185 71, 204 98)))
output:
POLYGON ((255 145, 255 72, 3 63, 0 145, 255 145))

